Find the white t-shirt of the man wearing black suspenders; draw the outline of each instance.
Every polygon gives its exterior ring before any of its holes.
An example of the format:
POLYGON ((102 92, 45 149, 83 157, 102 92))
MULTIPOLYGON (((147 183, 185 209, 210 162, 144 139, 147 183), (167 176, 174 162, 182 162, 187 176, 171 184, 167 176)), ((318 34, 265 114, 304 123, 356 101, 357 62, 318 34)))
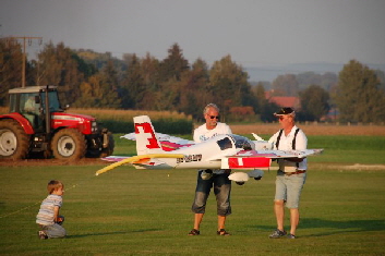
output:
MULTIPOLYGON (((285 132, 280 135, 278 148, 276 148, 277 138, 279 135, 280 130, 274 134, 269 139, 268 143, 273 144, 273 147, 278 150, 292 150, 292 141, 294 138, 296 130, 298 127, 294 125, 290 133, 286 136, 285 132)), ((308 147, 308 138, 306 135, 300 130, 296 136, 296 150, 303 150, 308 147)), ((293 172, 296 170, 306 170, 308 169, 308 159, 304 158, 303 161, 292 162, 287 161, 284 159, 279 159, 279 169, 285 172, 293 172)))

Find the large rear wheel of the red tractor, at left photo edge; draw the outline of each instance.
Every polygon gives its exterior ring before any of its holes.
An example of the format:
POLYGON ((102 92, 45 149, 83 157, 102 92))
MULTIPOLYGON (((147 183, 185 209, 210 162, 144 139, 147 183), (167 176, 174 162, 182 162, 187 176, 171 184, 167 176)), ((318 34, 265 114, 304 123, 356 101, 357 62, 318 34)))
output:
POLYGON ((0 121, 0 158, 23 159, 28 155, 29 135, 11 119, 0 121))

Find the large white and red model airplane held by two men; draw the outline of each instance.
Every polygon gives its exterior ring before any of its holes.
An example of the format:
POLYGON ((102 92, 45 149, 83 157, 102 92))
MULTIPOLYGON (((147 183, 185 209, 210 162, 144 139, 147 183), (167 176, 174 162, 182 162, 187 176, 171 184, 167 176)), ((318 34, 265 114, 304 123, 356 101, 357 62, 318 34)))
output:
POLYGON ((249 170, 249 173, 234 172, 229 179, 244 183, 249 178, 261 179, 263 171, 277 158, 304 158, 320 154, 323 149, 269 150, 270 145, 257 135, 257 141, 227 134, 217 135, 206 142, 192 141, 156 133, 147 115, 134 118, 135 132, 122 136, 136 141, 134 157, 110 156, 103 158, 115 163, 96 172, 99 175, 124 163, 136 169, 232 169, 249 170), (251 171, 250 171, 251 170, 251 171))

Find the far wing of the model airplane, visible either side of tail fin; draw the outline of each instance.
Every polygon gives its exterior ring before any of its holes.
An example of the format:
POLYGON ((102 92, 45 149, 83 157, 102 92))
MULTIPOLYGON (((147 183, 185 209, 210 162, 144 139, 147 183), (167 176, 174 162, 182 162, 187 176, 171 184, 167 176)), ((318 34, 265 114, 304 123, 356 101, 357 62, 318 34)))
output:
MULTIPOLYGON (((193 141, 189 141, 189 139, 184 139, 181 137, 177 137, 177 136, 171 136, 168 134, 164 134, 164 133, 155 133, 156 137, 158 138, 161 148, 165 151, 172 151, 182 147, 190 147, 192 145, 195 145, 195 142, 193 141)), ((130 141, 136 141, 135 137, 135 133, 129 133, 125 134, 123 136, 121 136, 121 138, 127 138, 130 141)))

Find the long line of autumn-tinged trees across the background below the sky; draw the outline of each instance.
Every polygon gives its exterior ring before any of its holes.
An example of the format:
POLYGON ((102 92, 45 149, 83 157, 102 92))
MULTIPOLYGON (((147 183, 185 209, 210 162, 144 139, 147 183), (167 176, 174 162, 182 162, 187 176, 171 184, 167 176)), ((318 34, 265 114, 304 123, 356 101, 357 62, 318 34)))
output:
MULTIPOLYGON (((0 106, 8 105, 10 88, 21 87, 22 53, 17 41, 0 40, 0 106)), ((320 121, 330 108, 338 109, 342 122, 385 120, 384 73, 356 60, 338 76, 287 74, 266 87, 249 82, 230 54, 210 66, 201 58, 189 63, 178 44, 158 60, 151 53, 118 59, 48 42, 25 70, 27 86, 57 85, 61 102, 72 107, 178 111, 198 120, 203 107, 215 102, 222 121, 273 121, 279 107, 266 98, 268 89, 272 96, 299 97, 301 121, 320 121)))

